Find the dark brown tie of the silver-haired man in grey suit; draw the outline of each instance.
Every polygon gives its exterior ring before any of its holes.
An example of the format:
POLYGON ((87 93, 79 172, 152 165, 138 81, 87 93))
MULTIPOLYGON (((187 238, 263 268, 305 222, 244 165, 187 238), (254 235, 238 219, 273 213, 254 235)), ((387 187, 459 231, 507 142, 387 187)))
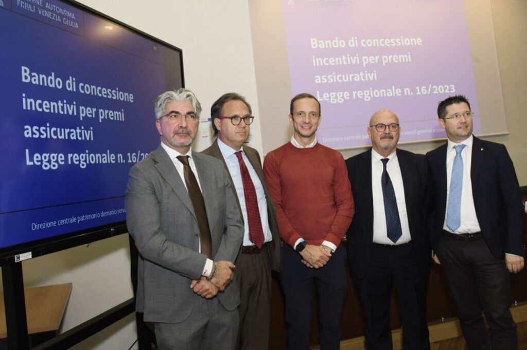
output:
POLYGON ((203 202, 203 196, 199 189, 198 181, 196 176, 192 172, 189 165, 189 156, 178 156, 178 161, 183 163, 183 175, 185 183, 187 184, 187 191, 189 192, 190 201, 196 213, 196 219, 198 220, 199 237, 201 242, 201 253, 212 258, 212 240, 210 237, 209 219, 207 219, 207 212, 205 211, 205 202, 203 202))

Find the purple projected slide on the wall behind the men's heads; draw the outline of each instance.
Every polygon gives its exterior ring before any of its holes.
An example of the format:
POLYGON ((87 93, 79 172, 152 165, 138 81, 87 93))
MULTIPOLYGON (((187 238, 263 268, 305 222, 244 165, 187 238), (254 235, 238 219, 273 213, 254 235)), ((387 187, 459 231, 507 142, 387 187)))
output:
POLYGON ((480 132, 462 0, 283 0, 292 94, 321 103, 326 146, 369 144, 366 124, 392 109, 405 142, 444 137, 431 106, 469 97, 480 132))

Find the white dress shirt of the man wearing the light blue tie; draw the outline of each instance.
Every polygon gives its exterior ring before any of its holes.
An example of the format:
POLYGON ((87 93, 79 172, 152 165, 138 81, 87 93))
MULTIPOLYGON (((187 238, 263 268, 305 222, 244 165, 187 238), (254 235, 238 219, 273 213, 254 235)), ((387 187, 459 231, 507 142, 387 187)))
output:
POLYGON ((448 140, 446 148, 446 211, 445 222, 443 229, 445 231, 464 234, 480 232, 480 224, 477 221, 476 208, 474 206, 474 198, 472 197, 472 179, 470 177, 470 168, 472 165, 472 143, 474 138, 470 135, 465 141, 461 143, 453 143, 448 140), (448 197, 450 197, 450 179, 452 177, 452 167, 454 165, 454 158, 456 150, 454 146, 465 145, 461 151, 461 158, 463 159, 463 187, 461 190, 461 225, 455 231, 452 231, 446 225, 448 214, 448 197))

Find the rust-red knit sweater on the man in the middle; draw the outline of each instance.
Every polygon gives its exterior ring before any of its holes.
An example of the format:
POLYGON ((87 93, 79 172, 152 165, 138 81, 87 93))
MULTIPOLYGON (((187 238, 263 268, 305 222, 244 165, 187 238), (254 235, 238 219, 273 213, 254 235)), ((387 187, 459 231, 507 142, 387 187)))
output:
POLYGON ((339 152, 319 143, 296 148, 288 142, 267 154, 264 173, 285 243, 294 246, 304 238, 309 244, 339 245, 355 213, 339 152))

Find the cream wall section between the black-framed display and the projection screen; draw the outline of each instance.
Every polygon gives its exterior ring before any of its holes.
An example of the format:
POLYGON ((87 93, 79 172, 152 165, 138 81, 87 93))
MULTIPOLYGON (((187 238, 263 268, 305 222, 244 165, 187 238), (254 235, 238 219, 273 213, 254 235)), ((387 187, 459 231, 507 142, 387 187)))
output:
MULTIPOLYGON (((80 2, 181 48, 185 85, 198 96, 203 116, 226 92, 244 95, 258 111, 247 0, 80 2)), ((251 134, 261 149, 259 123, 251 134)))

